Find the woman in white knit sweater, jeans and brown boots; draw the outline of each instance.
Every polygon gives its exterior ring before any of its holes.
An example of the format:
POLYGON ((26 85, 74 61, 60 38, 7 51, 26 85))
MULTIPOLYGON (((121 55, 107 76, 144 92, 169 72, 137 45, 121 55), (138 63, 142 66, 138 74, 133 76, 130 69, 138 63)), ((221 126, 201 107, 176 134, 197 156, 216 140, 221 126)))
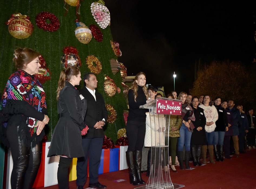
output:
POLYGON ((212 98, 210 95, 204 96, 203 104, 199 105, 204 109, 204 115, 206 117, 205 133, 207 137, 208 146, 202 146, 202 156, 203 164, 206 164, 206 151, 207 147, 209 150, 210 163, 215 163, 214 161, 214 151, 213 151, 213 140, 214 140, 214 130, 216 128, 215 122, 218 120, 218 112, 215 106, 212 106, 212 98))

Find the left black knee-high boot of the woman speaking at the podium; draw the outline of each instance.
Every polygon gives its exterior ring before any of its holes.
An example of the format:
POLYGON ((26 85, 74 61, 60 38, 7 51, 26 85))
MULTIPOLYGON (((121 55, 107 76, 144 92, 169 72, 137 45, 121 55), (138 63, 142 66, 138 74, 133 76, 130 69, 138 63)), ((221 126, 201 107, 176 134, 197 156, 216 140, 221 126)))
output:
POLYGON ((136 174, 135 174, 134 152, 133 151, 126 152, 126 160, 127 160, 127 164, 128 164, 130 184, 133 184, 135 186, 140 185, 139 181, 137 180, 136 174))

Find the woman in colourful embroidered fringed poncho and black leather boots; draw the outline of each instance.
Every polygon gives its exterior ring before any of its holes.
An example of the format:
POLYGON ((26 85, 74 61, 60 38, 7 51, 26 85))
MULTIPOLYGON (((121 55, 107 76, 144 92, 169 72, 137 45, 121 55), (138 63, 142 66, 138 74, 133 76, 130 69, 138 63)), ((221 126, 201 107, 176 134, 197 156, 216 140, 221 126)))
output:
POLYGON ((1 99, 1 141, 11 149, 11 188, 32 188, 41 163, 44 127, 49 122, 45 92, 34 77, 40 54, 18 48, 14 53, 17 72, 6 83, 1 99))

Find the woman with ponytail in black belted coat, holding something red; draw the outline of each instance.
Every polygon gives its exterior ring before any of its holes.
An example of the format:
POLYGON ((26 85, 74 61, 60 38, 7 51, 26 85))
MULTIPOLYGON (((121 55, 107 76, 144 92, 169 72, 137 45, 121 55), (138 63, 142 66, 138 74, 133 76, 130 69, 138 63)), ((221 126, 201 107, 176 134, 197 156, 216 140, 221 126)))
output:
POLYGON ((69 66, 60 73, 57 89, 59 121, 54 128, 48 156, 60 155, 57 172, 59 188, 68 187, 68 168, 74 157, 83 157, 82 135, 88 127, 84 123, 87 102, 79 95, 76 85, 81 81, 78 67, 69 66))

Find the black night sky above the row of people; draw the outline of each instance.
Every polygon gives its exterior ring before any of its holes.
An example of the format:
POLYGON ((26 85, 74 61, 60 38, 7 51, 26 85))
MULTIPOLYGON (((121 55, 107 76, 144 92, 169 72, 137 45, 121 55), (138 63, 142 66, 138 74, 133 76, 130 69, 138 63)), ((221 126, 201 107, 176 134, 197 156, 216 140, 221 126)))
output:
POLYGON ((143 71, 147 84, 189 92, 195 61, 256 58, 256 19, 252 1, 106 0, 113 40, 118 42, 127 75, 143 71))

